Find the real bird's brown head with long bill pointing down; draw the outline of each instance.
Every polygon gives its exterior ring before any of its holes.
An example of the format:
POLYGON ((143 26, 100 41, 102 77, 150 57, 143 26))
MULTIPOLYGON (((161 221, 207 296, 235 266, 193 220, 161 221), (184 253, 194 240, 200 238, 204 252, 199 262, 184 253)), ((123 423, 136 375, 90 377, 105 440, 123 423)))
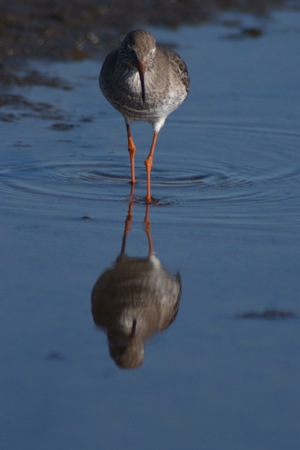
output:
POLYGON ((155 39, 149 31, 133 30, 124 38, 121 44, 121 52, 124 63, 139 72, 142 99, 145 102, 145 72, 154 64, 155 39))

